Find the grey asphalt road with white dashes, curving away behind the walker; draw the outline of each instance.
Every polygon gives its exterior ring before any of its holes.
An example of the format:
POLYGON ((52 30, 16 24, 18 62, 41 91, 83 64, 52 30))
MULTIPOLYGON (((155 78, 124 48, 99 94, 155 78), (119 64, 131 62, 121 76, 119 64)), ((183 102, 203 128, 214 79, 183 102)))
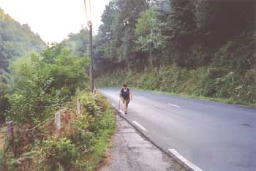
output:
MULTIPOLYGON (((118 107, 117 88, 101 90, 118 107)), ((256 109, 133 91, 125 117, 204 171, 256 170, 256 109)), ((123 109, 121 107, 121 109, 123 109)))

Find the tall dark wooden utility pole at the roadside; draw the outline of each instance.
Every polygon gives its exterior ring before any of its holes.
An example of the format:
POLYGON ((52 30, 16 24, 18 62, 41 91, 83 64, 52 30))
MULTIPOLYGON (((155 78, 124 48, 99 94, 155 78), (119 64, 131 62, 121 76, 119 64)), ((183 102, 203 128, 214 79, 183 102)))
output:
POLYGON ((89 21, 89 37, 90 37, 90 58, 91 58, 91 66, 90 66, 90 80, 91 80, 91 93, 94 92, 94 57, 92 51, 92 24, 89 21))

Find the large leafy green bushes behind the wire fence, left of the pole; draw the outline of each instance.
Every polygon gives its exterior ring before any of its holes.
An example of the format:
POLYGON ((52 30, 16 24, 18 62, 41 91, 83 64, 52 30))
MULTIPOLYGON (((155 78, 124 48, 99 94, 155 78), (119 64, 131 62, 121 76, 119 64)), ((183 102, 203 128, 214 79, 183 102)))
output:
POLYGON ((10 67, 13 76, 8 118, 19 123, 44 121, 64 106, 77 88, 85 88, 88 64, 88 58, 70 57, 67 50, 58 47, 48 48, 42 56, 17 59, 10 67), (54 56, 53 61, 49 56, 54 56))

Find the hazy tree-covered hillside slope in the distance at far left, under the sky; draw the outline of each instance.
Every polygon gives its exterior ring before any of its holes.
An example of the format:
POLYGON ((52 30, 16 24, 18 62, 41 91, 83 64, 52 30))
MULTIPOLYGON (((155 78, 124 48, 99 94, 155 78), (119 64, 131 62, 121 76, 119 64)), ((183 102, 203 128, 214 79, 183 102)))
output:
POLYGON ((46 47, 45 42, 28 25, 20 25, 1 8, 0 40, 0 58, 6 63, 4 69, 7 69, 7 59, 24 56, 30 51, 39 52, 46 47))

